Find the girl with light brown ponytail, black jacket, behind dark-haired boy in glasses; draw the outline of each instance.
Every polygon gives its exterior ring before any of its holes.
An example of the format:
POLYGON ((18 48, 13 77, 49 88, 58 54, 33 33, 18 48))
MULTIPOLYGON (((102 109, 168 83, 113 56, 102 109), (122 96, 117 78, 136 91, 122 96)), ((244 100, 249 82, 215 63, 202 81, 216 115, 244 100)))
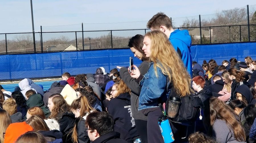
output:
POLYGON ((72 130, 72 141, 75 143, 90 143, 90 139, 86 133, 85 120, 88 114, 95 111, 95 109, 91 107, 85 96, 75 99, 70 109, 76 117, 75 126, 72 130))

